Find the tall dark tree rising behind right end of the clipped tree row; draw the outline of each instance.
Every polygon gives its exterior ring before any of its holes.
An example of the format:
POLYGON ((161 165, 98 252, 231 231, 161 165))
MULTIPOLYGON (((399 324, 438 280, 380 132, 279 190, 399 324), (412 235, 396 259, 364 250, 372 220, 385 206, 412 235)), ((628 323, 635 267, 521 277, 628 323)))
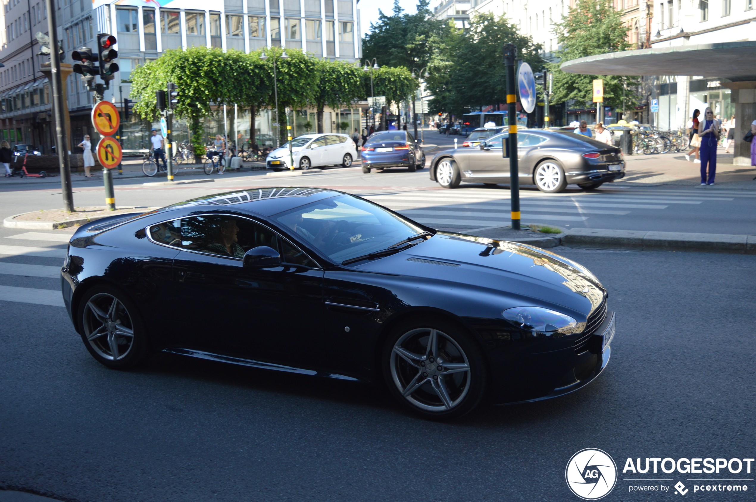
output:
POLYGON ((430 19, 430 0, 418 0, 417 12, 407 14, 394 0, 391 15, 379 11, 378 22, 370 23, 370 33, 362 40, 363 57, 379 66, 404 66, 411 69, 429 63, 435 34, 445 32, 445 23, 430 19))

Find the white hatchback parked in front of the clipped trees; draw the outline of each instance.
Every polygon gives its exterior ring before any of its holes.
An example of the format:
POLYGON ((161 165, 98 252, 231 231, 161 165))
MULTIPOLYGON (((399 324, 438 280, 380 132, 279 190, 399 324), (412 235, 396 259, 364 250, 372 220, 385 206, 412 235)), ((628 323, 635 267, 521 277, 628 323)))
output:
POLYGON ((346 134, 304 134, 283 143, 279 148, 268 153, 265 164, 268 169, 280 171, 294 168, 324 168, 329 165, 341 165, 349 168, 352 160, 357 158, 355 142, 346 134))

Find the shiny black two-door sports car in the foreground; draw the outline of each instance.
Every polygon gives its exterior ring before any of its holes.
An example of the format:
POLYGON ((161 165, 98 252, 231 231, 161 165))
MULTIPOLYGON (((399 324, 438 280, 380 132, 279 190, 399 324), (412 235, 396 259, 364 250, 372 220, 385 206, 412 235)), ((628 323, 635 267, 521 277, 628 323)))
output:
POLYGON ((549 251, 439 232, 329 189, 228 192, 81 226, 63 297, 110 368, 150 350, 385 383, 456 417, 584 387, 614 313, 587 269, 549 251))

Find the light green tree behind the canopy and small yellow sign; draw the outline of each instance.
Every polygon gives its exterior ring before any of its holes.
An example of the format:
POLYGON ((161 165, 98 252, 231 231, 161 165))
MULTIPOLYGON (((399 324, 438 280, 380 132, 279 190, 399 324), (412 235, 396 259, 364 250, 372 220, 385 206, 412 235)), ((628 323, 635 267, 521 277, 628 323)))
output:
MULTIPOLYGON (((562 21, 555 24, 554 33, 562 46, 556 52, 560 61, 631 49, 627 26, 612 0, 578 0, 575 8, 569 8, 562 21)), ((636 105, 638 97, 633 89, 639 82, 635 77, 565 73, 559 69, 560 64, 548 65, 554 75, 552 103, 592 102, 593 80, 603 79, 604 106, 624 110, 636 105)))

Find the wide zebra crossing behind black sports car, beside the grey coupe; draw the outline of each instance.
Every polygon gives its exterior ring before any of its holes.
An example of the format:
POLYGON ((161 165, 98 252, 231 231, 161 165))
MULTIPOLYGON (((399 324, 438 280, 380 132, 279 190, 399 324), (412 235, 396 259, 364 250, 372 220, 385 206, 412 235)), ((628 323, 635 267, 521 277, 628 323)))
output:
MULTIPOLYGON (((465 187, 359 195, 429 226, 472 230, 505 226, 510 220, 510 192, 506 189, 465 187)), ((623 217, 632 213, 637 216, 639 211, 699 208, 741 198, 754 199, 756 194, 739 190, 649 190, 619 186, 554 194, 526 189, 520 191, 520 212, 523 223, 579 224, 597 216, 623 217)))

